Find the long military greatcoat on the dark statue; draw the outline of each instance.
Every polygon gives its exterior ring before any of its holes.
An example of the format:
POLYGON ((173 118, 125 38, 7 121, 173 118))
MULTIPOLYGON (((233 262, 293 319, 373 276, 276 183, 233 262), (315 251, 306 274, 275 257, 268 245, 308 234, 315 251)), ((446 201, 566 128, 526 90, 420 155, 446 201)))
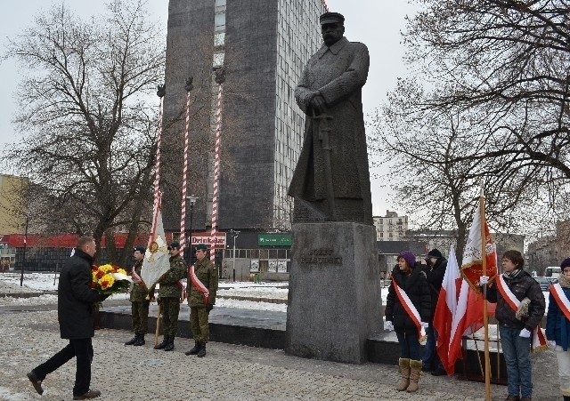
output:
POLYGON ((327 172, 322 143, 310 107, 318 91, 326 102, 326 114, 333 117, 330 164, 334 197, 362 199, 362 222, 366 224, 372 223, 372 205, 362 86, 366 83, 369 65, 366 45, 349 42, 346 37, 330 47, 323 44, 309 60, 295 89, 297 105, 307 116, 303 149, 289 186, 289 196, 308 202, 326 199, 327 172))

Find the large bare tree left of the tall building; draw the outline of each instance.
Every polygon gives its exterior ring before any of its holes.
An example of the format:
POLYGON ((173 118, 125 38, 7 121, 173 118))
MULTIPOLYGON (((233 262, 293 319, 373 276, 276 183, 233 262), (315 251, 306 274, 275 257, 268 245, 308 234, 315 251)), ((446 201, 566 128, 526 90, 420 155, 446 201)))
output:
POLYGON ((115 229, 137 230, 151 205, 150 95, 163 80, 165 45, 143 4, 113 0, 103 18, 91 20, 53 6, 5 53, 27 73, 14 121, 23 140, 9 156, 15 172, 35 183, 28 213, 98 244, 115 229))

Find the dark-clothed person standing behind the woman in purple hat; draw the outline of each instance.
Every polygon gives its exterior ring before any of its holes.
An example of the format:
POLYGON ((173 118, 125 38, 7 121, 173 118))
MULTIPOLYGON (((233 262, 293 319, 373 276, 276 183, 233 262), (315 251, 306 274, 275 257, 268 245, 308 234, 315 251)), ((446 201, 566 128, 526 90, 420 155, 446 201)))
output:
POLYGON ((426 334, 428 340, 424 347, 424 354, 421 357, 421 363, 424 371, 432 371, 434 376, 443 376, 445 373, 444 365, 437 357, 436 341, 437 333, 434 330, 434 316, 436 315, 437 299, 444 282, 445 269, 447 269, 447 259, 436 248, 428 252, 428 258, 421 261, 423 271, 426 273, 429 286, 429 294, 431 295, 431 314, 429 315, 428 328, 426 334))

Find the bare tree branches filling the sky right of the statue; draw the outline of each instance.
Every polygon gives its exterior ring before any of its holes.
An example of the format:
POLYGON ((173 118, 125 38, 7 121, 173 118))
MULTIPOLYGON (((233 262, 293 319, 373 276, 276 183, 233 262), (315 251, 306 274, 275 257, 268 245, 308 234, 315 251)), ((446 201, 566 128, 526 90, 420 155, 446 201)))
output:
MULTIPOLYGON (((471 188, 483 180, 496 229, 516 229, 527 215, 539 223, 567 215, 566 203, 558 199, 566 199, 570 179, 570 4, 418 3, 422 10, 403 34, 413 76, 402 79, 392 93, 376 122, 377 132, 393 150, 401 142, 397 138, 416 135, 407 143, 407 156, 418 164, 416 172, 424 172, 427 186, 434 183, 430 175, 442 177, 446 166, 471 188), (455 123, 450 124, 452 116, 455 123), (426 156, 446 146, 451 150, 446 157, 426 156)), ((405 156, 399 160, 411 163, 405 156)), ((437 200, 462 192, 445 185, 451 193, 435 193, 437 200)), ((440 205, 428 207, 434 212, 440 205)), ((468 221, 468 214, 453 211, 468 221)))

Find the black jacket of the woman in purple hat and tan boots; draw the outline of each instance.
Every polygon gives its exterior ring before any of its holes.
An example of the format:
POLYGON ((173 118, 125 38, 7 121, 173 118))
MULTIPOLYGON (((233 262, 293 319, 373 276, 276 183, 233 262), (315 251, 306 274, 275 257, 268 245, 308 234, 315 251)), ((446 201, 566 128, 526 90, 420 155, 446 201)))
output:
MULTIPOLYGON (((431 314, 431 297, 426 273, 422 271, 421 265, 416 264, 409 276, 403 275, 400 268, 396 266, 392 271, 392 279, 408 295, 413 306, 418 309, 421 321, 428 322, 431 314)), ((385 315, 386 320, 392 321, 395 331, 418 333, 418 328, 413 324, 411 317, 408 316, 400 300, 398 300, 394 283, 388 287, 385 315)))

